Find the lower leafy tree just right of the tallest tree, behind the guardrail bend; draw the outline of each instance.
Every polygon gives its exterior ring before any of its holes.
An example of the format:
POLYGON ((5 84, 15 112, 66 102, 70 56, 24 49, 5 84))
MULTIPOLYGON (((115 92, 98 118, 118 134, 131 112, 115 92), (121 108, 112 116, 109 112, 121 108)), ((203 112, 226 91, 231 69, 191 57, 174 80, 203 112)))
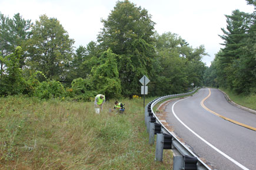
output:
POLYGON ((154 95, 177 94, 187 91, 191 83, 202 84, 204 63, 201 58, 204 46, 192 49, 175 33, 155 34, 155 49, 158 54, 159 69, 152 79, 154 95))

